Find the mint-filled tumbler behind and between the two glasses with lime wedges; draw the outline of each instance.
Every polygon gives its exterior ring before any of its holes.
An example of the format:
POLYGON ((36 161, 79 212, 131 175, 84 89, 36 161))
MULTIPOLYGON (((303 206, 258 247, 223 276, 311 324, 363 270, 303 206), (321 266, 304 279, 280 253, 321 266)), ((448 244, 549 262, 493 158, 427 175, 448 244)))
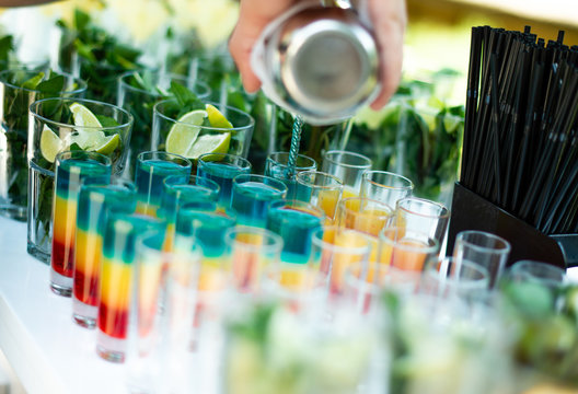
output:
POLYGON ((153 150, 151 146, 152 107, 166 99, 171 83, 188 88, 200 100, 208 99, 210 95, 210 88, 198 79, 193 80, 185 76, 164 73, 159 70, 129 71, 118 78, 117 105, 135 117, 124 173, 124 176, 129 179, 135 178, 137 155, 140 152, 153 150))

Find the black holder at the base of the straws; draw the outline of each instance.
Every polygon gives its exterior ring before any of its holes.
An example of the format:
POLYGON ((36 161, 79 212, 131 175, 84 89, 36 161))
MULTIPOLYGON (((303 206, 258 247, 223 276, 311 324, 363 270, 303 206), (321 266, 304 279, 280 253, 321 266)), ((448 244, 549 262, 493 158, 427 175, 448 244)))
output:
POLYGON ((507 266, 521 259, 550 263, 562 268, 578 266, 578 234, 545 235, 459 182, 453 189, 451 210, 448 255, 453 252, 459 232, 479 230, 499 235, 511 244, 507 266))

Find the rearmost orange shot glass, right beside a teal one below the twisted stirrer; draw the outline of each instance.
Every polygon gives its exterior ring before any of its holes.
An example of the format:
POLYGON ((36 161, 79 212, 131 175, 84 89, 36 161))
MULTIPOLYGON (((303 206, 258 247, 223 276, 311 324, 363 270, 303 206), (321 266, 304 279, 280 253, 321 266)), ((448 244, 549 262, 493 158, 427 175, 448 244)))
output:
POLYGON ((332 223, 335 220, 337 204, 342 199, 342 179, 317 171, 303 171, 297 174, 294 198, 321 208, 327 222, 332 223))

